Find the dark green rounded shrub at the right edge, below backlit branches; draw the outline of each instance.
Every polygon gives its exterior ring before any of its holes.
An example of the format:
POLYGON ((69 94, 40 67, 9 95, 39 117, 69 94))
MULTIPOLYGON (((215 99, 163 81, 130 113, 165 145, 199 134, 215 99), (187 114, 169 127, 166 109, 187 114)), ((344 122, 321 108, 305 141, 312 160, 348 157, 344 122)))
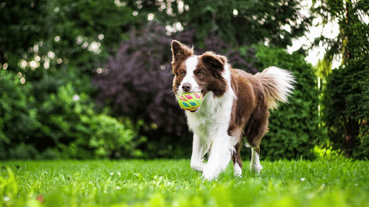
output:
POLYGON ((354 158, 369 157, 369 60, 349 60, 332 70, 323 96, 323 121, 334 148, 354 158))

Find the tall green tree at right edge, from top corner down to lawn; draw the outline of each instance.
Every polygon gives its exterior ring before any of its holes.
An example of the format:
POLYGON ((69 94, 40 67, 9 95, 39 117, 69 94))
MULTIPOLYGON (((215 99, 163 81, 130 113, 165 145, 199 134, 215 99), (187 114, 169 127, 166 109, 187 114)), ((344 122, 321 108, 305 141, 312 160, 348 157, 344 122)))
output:
MULTIPOLYGON (((367 139, 362 136, 369 117, 367 105, 367 60, 369 58, 369 25, 364 22, 369 13, 368 0, 316 1, 312 11, 323 18, 322 24, 336 21, 339 34, 334 39, 315 39, 313 46, 325 46, 322 71, 327 74, 327 90, 323 96, 323 121, 328 137, 336 148, 351 156, 355 146, 367 139), (341 67, 331 71, 332 59, 342 56, 341 67)), ((365 134, 365 133, 364 133, 365 134)))

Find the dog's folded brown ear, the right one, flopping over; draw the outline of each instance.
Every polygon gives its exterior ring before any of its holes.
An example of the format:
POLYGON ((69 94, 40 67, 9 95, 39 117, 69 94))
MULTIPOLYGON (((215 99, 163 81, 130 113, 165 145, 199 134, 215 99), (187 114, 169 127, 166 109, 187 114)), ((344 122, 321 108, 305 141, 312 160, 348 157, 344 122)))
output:
POLYGON ((227 57, 221 55, 215 55, 213 52, 206 52, 201 55, 203 63, 211 67, 211 71, 215 77, 221 76, 221 72, 224 70, 224 64, 227 63, 227 57))

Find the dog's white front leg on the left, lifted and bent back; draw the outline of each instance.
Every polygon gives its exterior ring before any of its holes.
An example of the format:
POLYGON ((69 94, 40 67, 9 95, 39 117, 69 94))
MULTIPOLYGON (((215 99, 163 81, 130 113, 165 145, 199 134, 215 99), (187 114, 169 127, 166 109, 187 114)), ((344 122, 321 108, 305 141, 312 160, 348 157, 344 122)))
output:
POLYGON ((204 165, 203 157, 206 152, 206 147, 204 141, 201 140, 196 133, 193 134, 193 143, 192 143, 192 156, 191 156, 191 168, 196 172, 203 172, 204 165))

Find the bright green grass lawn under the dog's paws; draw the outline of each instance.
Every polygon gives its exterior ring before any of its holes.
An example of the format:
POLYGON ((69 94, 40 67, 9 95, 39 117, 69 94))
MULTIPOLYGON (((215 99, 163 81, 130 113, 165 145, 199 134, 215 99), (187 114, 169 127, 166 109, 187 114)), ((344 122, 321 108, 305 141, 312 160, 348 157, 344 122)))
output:
POLYGON ((261 164, 202 182, 189 160, 3 161, 0 206, 369 206, 368 161, 261 164))

